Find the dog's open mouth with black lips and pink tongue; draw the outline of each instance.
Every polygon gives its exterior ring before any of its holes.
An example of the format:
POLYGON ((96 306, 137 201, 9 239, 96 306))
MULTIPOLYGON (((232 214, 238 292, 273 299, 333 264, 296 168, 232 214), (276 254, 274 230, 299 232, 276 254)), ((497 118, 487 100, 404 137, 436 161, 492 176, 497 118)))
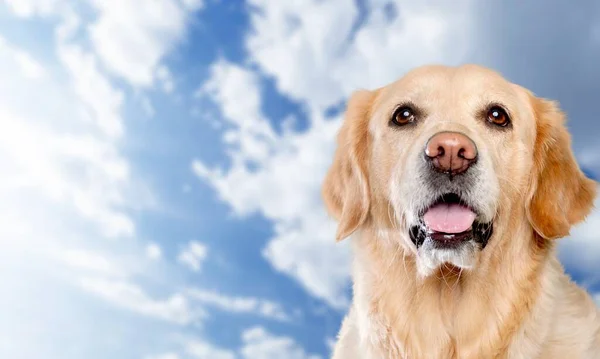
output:
POLYGON ((446 193, 422 211, 419 225, 410 230, 411 239, 419 247, 431 238, 438 248, 455 248, 475 240, 485 247, 492 223, 477 221, 477 212, 455 193, 446 193))

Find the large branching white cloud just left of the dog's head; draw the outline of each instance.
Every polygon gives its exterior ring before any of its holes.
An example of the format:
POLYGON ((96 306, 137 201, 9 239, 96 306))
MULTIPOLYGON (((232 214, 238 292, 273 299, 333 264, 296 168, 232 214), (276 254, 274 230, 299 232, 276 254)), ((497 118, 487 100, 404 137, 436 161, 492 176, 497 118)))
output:
POLYGON ((208 180, 235 213, 259 212, 274 222, 275 237, 264 255, 275 268, 298 279, 315 296, 344 307, 347 249, 335 244, 335 227, 319 195, 339 121, 316 114, 308 132, 277 135, 260 111, 255 74, 220 61, 212 75, 202 91, 220 104, 232 125, 224 136, 231 139, 233 166, 225 172, 196 160, 192 170, 208 180), (249 161, 258 168, 250 170, 249 161))

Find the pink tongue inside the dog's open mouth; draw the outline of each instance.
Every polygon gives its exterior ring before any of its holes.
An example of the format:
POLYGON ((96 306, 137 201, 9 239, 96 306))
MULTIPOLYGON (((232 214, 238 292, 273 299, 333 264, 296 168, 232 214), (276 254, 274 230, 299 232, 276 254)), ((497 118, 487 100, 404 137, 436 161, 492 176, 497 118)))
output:
POLYGON ((461 233, 471 228, 475 213, 460 204, 440 203, 427 210, 423 219, 425 225, 433 231, 461 233))

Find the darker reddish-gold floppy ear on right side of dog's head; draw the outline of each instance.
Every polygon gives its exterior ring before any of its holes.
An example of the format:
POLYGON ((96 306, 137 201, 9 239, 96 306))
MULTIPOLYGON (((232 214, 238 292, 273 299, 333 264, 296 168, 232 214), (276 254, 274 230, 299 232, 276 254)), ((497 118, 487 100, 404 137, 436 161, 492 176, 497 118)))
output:
POLYGON ((527 216, 541 237, 566 237, 593 209, 597 183, 579 168, 558 105, 533 95, 530 98, 537 134, 527 216))

